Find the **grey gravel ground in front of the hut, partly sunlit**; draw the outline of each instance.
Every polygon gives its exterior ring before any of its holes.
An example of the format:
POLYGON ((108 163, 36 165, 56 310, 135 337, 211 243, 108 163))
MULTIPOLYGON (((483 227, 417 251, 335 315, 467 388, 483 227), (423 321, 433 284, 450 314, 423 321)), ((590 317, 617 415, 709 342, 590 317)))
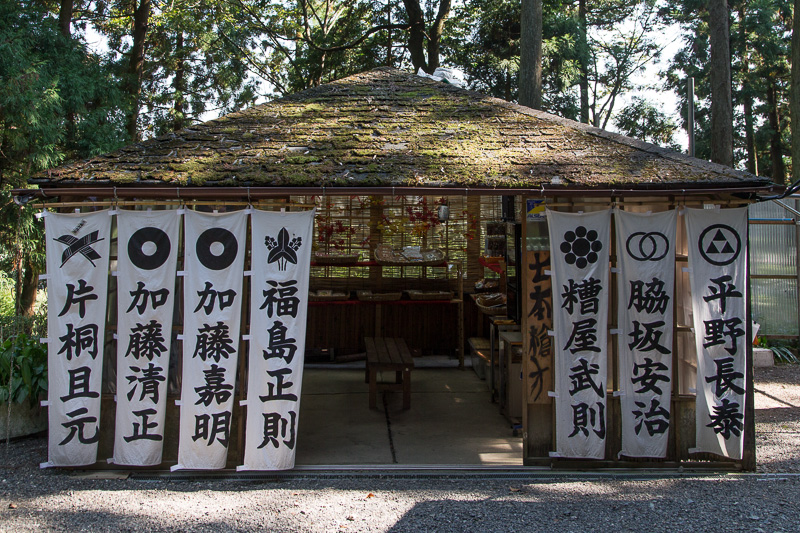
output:
POLYGON ((797 531, 800 366, 756 369, 758 475, 92 479, 0 445, 0 531, 797 531))

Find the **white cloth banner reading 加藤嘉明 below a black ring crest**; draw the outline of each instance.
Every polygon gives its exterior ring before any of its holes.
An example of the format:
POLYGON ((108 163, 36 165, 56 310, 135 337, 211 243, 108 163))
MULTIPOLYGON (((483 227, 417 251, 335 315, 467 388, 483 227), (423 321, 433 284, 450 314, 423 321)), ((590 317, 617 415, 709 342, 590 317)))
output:
POLYGON ((178 464, 224 468, 228 455, 247 213, 184 216, 183 374, 178 464))

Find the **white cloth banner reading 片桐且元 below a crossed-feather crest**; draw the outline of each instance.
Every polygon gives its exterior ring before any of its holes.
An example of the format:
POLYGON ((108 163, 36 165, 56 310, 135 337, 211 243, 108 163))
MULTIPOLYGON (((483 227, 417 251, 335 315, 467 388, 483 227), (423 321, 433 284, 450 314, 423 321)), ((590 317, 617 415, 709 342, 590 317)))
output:
POLYGON ((97 460, 111 241, 109 211, 48 213, 48 463, 97 460))

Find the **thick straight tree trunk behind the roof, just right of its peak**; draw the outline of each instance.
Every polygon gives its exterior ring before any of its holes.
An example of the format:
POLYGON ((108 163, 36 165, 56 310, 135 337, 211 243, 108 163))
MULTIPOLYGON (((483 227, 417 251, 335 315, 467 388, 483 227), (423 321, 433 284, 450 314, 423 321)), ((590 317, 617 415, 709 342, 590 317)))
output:
POLYGON ((519 103, 542 108, 542 0, 522 0, 519 103))

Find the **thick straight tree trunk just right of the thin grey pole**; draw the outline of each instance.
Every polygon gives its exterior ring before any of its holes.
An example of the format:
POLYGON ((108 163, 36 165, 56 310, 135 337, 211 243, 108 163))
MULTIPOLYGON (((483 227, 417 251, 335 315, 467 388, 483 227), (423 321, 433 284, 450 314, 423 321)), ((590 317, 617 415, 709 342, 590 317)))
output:
POLYGON ((711 45, 711 160, 733 166, 733 101, 729 10, 726 0, 708 0, 711 45))

